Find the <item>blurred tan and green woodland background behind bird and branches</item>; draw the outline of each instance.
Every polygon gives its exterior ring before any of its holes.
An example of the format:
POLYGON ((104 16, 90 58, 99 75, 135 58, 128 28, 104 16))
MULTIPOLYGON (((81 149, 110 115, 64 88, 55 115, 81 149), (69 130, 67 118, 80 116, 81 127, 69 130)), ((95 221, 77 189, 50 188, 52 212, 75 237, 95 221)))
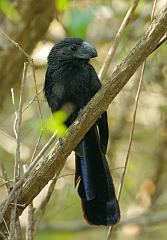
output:
MULTIPOLYGON (((0 0, 0 29, 34 59, 41 114, 29 68, 24 92, 21 130, 21 164, 29 164, 41 135, 41 118, 50 115, 43 95, 47 55, 54 43, 64 37, 81 37, 93 44, 98 58, 92 61, 99 73, 116 32, 133 1, 125 0, 0 0)), ((157 1, 156 12, 165 0, 157 1)), ((104 81, 123 60, 150 24, 152 0, 142 0, 123 32, 104 81)), ((147 60, 141 89, 132 149, 120 199, 121 222, 112 239, 166 239, 167 235, 167 44, 147 60)), ((23 65, 27 61, 0 32, 0 162, 13 179, 16 140, 13 131, 18 109, 23 65), (12 103, 14 91, 15 106, 12 103)), ((108 109, 110 141, 108 161, 116 192, 122 178, 132 125, 134 101, 141 74, 138 69, 108 109)), ((50 133, 43 131, 37 152, 50 133)), ((106 239, 108 228, 88 226, 83 220, 80 199, 74 188, 74 156, 68 158, 35 240, 106 239)), ((48 186, 35 199, 38 207, 48 186)), ((0 175, 0 202, 6 189, 0 175)), ((23 231, 27 211, 21 216, 23 231)))

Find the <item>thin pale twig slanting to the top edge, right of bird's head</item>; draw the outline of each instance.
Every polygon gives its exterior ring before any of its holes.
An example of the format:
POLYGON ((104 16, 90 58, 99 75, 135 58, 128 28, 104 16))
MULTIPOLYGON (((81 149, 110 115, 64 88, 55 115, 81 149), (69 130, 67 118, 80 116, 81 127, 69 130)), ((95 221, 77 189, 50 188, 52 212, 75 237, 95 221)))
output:
POLYGON ((107 57, 104 61, 104 64, 99 72, 99 79, 103 82, 105 76, 106 76, 106 73, 108 71, 108 68, 109 68, 109 65, 111 64, 111 61, 114 57, 114 54, 116 52, 116 49, 118 47, 118 44, 119 44, 119 40, 121 38, 121 34, 122 32, 125 30, 126 26, 128 25, 129 23, 129 20, 130 18, 132 17, 132 14, 134 12, 134 10, 136 9, 138 3, 139 3, 140 0, 133 0, 133 3, 131 5, 131 7, 128 9, 122 23, 121 23, 121 26, 119 27, 117 33, 116 33, 116 36, 114 38, 114 42, 111 46, 111 48, 109 49, 108 51, 108 54, 107 54, 107 57))

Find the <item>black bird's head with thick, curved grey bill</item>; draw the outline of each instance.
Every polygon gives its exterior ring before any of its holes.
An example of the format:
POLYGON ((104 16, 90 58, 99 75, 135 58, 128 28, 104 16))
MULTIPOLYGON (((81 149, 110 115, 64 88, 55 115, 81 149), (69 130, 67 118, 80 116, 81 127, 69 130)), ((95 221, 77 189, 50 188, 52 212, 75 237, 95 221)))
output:
POLYGON ((97 57, 97 51, 90 43, 80 38, 65 38, 53 46, 48 56, 48 62, 54 62, 55 59, 89 61, 94 57, 97 57))

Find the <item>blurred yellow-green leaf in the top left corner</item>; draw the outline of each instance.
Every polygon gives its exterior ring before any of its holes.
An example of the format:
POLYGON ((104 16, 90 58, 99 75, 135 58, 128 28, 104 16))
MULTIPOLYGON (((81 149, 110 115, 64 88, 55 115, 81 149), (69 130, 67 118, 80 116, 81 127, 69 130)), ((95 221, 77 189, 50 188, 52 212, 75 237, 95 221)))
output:
POLYGON ((12 21, 20 20, 20 15, 17 9, 12 6, 10 0, 0 0, 0 11, 12 21))

